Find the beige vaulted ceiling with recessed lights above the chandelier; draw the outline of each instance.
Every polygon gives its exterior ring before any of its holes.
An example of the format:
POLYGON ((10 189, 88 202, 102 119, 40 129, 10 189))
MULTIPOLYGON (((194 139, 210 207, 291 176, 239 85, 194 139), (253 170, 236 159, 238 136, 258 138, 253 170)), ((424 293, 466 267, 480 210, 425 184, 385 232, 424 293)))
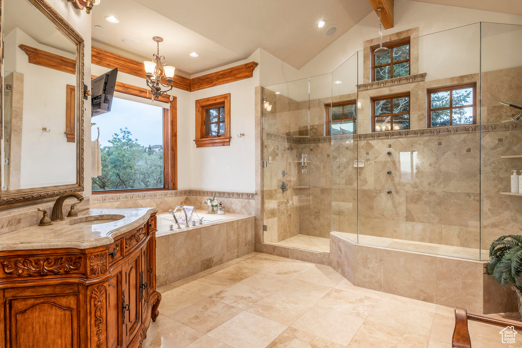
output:
MULTIPOLYGON (((522 0, 414 1, 522 15, 522 0)), ((368 0, 104 0, 92 11, 92 40, 148 59, 156 52, 152 37, 161 36, 161 54, 185 75, 246 59, 258 47, 299 69, 372 11, 368 0), (110 15, 120 22, 106 21, 110 15), (326 24, 318 28, 321 19, 326 24), (326 37, 334 26, 335 34, 326 37)))

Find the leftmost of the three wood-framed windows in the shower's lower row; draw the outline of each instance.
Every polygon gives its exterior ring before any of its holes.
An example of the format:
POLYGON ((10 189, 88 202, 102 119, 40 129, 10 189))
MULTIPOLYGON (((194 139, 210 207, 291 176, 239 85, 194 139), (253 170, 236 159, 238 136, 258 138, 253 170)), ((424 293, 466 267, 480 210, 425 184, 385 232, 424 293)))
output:
POLYGON ((326 135, 357 133, 357 101, 325 104, 326 135))

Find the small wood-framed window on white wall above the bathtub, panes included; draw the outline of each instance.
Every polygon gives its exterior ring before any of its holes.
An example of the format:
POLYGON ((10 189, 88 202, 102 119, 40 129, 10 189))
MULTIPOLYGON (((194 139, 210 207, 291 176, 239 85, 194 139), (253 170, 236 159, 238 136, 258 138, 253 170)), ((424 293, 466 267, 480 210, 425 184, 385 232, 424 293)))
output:
POLYGON ((230 93, 196 100, 196 147, 230 145, 230 93))

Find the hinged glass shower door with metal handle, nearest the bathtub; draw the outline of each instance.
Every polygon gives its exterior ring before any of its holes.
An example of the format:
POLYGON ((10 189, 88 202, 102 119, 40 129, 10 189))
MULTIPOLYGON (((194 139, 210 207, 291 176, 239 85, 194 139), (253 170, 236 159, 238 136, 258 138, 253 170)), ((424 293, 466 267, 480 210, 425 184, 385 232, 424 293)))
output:
POLYGON ((263 100, 264 242, 284 244, 299 235, 299 210, 309 203, 299 149, 309 135, 309 79, 265 87, 263 100))

